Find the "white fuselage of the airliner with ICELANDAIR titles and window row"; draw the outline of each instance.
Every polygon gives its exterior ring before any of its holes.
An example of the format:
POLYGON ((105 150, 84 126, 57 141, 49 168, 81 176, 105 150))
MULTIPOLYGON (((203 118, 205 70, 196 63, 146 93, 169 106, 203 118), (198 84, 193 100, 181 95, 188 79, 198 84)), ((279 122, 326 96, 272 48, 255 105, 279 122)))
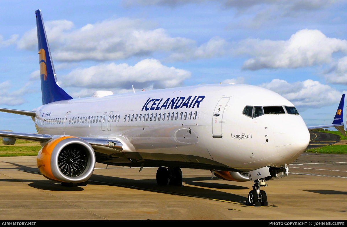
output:
POLYGON ((306 149, 310 136, 300 115, 252 118, 245 106, 294 105, 256 86, 201 85, 58 101, 36 108, 35 126, 43 134, 123 138, 134 148, 127 153, 149 166, 250 171, 286 166, 306 149))

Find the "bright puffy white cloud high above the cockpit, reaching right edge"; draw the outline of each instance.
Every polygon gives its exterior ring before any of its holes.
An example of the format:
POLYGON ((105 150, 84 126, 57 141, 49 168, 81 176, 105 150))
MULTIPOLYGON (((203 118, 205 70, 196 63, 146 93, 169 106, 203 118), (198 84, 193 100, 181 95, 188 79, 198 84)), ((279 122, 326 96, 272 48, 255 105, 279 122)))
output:
POLYGON ((347 41, 329 38, 320 30, 303 29, 286 41, 248 38, 238 43, 236 54, 248 54, 243 69, 298 68, 330 63, 332 54, 347 52, 347 41))

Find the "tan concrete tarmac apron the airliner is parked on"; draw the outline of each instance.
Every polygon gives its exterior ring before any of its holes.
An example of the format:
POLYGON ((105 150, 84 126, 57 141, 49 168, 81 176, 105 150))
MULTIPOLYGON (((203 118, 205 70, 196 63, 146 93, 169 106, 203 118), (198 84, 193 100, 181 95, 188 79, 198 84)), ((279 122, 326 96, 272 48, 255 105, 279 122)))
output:
POLYGON ((86 187, 38 173, 36 157, 0 158, 0 220, 347 220, 347 155, 304 153, 264 187, 268 207, 244 205, 253 182, 182 169, 184 186, 158 186, 157 168, 96 164, 86 187))

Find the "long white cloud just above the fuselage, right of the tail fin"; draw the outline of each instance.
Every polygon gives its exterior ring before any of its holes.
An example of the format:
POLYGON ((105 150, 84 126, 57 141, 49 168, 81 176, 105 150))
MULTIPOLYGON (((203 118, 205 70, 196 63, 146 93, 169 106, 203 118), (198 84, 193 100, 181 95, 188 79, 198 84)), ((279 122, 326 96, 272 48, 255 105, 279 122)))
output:
POLYGON ((122 64, 99 64, 89 68, 72 70, 62 80, 63 86, 84 88, 169 88, 183 84, 191 72, 167 67, 155 59, 145 59, 134 66, 122 64))

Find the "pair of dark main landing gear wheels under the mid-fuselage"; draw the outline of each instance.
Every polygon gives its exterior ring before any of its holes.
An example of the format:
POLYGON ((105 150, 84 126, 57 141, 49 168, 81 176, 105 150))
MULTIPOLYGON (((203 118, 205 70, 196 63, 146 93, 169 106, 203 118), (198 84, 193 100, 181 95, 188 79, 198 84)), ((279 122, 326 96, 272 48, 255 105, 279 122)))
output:
POLYGON ((159 167, 156 171, 156 183, 161 186, 168 184, 182 186, 182 171, 178 167, 159 167))

